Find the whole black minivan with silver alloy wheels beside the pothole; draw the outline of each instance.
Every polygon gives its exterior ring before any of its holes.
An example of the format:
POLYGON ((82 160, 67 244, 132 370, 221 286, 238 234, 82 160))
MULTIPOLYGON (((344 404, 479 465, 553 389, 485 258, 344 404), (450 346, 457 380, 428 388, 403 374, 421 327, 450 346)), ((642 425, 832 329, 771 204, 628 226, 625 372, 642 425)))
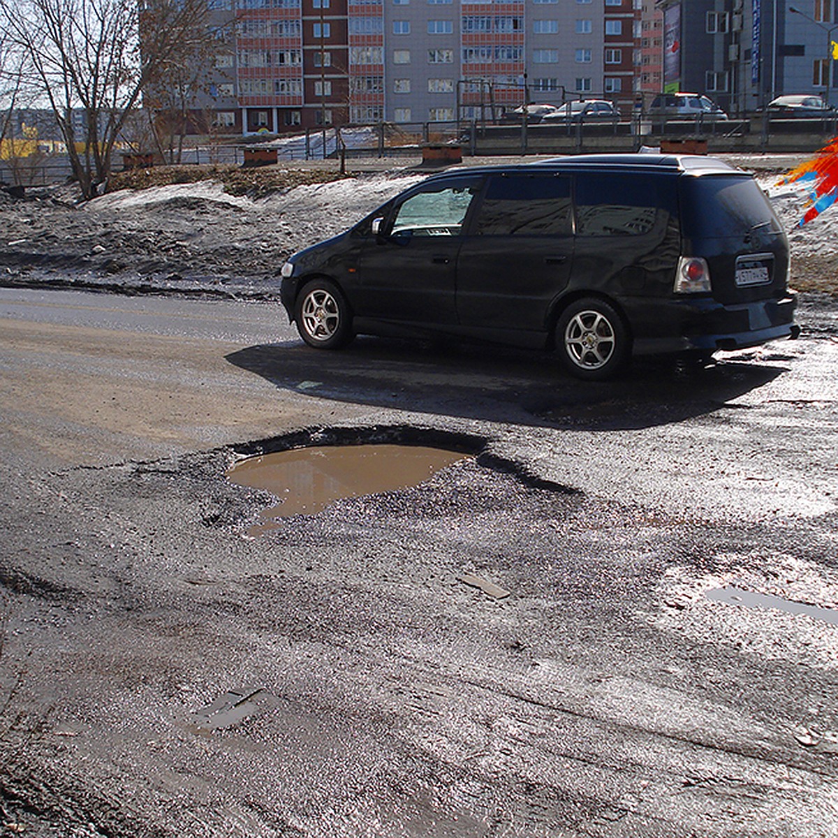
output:
POLYGON ((303 340, 447 334, 555 349, 603 380, 632 354, 796 337, 789 242, 749 173, 714 158, 578 155, 432 175, 291 256, 303 340))

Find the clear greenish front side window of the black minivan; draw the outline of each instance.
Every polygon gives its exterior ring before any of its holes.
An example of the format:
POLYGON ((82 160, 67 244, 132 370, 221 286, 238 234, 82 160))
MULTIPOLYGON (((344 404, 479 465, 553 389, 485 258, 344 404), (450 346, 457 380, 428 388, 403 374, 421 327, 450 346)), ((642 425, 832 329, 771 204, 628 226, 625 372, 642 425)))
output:
POLYGON ((478 180, 429 184, 396 207, 391 235, 460 235, 478 180))

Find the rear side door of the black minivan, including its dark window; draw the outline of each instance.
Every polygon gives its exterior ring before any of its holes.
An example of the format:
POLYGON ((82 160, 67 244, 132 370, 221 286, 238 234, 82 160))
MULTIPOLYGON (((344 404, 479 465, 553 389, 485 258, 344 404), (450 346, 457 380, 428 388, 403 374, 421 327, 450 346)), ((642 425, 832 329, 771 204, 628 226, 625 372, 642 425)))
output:
POLYGON ((460 323, 543 333, 572 258, 570 178, 537 170, 491 175, 459 251, 460 323))

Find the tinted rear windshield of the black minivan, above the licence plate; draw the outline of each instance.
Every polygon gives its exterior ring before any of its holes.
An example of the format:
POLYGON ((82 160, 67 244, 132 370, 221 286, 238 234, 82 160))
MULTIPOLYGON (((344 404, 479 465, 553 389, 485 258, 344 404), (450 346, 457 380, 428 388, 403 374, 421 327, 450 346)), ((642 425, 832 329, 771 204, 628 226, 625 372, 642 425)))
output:
POLYGON ((783 230, 765 193, 749 175, 702 175, 680 181, 681 220, 684 235, 690 238, 742 235, 757 226, 763 226, 763 232, 783 230))

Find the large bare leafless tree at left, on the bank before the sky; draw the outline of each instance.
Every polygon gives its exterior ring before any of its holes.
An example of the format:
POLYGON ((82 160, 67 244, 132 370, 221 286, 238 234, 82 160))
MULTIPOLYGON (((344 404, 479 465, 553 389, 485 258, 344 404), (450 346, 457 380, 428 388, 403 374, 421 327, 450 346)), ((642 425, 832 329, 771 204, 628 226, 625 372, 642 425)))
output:
POLYGON ((85 197, 106 181, 143 88, 207 39, 206 14, 206 0, 0 0, 0 29, 54 111, 85 197))

